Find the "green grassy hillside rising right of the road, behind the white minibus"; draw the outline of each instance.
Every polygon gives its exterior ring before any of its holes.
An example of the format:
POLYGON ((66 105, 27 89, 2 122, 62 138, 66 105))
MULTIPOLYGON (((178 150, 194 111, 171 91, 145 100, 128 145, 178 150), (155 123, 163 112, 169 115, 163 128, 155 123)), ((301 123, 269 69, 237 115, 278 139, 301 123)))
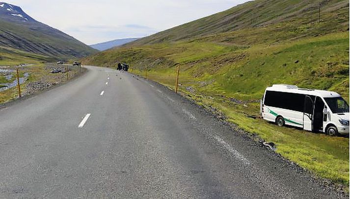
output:
POLYGON ((147 70, 150 79, 171 89, 180 66, 183 95, 274 142, 277 152, 317 176, 349 186, 349 138, 250 117, 258 117, 257 101, 272 84, 336 91, 349 101, 349 1, 247 2, 83 62, 104 67, 126 62, 133 73, 147 70), (255 19, 259 23, 252 25, 255 19), (230 25, 237 26, 227 29, 230 25))

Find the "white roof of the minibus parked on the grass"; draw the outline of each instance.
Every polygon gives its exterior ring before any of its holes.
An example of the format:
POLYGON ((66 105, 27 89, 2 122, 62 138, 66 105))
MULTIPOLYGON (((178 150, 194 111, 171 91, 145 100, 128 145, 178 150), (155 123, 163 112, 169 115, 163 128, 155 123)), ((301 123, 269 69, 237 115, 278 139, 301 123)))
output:
POLYGON ((323 91, 323 90, 314 90, 314 89, 304 89, 298 88, 295 85, 286 85, 286 84, 274 84, 271 87, 266 88, 267 91, 279 91, 286 93, 298 93, 304 95, 313 95, 323 98, 335 98, 340 97, 340 95, 333 91, 323 91))

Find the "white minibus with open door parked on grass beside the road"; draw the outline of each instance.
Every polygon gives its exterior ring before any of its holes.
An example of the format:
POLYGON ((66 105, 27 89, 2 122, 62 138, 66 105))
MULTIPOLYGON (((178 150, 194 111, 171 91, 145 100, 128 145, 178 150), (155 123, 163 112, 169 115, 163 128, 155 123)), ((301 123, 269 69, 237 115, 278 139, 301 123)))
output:
POLYGON ((266 89, 260 107, 262 117, 279 126, 287 124, 332 136, 349 134, 349 105, 332 91, 275 84, 266 89))

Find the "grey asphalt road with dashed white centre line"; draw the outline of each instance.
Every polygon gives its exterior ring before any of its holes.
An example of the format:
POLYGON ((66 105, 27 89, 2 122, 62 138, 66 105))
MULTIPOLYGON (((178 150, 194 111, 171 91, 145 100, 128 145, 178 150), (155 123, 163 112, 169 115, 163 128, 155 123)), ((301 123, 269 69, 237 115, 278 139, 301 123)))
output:
POLYGON ((87 68, 0 109, 0 198, 336 197, 165 87, 87 68))

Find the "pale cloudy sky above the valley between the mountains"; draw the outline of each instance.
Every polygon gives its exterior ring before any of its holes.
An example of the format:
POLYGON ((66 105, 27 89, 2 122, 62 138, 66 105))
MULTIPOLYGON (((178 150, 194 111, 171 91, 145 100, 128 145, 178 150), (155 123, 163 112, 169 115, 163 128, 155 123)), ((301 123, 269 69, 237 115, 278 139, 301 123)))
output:
POLYGON ((248 0, 2 0, 91 45, 144 37, 248 0))

